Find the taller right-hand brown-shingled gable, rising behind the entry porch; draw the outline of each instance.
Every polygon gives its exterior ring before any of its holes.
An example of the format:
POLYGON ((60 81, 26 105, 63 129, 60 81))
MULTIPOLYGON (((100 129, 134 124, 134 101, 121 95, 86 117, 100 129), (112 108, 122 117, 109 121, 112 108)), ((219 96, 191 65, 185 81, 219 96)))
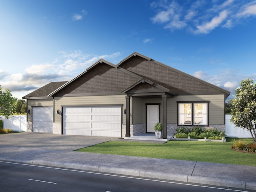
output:
POLYGON ((203 94, 205 92, 205 94, 210 94, 210 92, 215 92, 216 94, 216 92, 220 92, 222 94, 224 93, 226 98, 230 95, 230 92, 223 88, 186 74, 137 52, 126 57, 118 63, 117 66, 136 73, 142 78, 146 78, 156 84, 162 85, 165 88, 170 89, 172 93, 203 94), (137 61, 138 58, 140 58, 140 61, 137 61), (144 63, 144 65, 142 63, 144 63))

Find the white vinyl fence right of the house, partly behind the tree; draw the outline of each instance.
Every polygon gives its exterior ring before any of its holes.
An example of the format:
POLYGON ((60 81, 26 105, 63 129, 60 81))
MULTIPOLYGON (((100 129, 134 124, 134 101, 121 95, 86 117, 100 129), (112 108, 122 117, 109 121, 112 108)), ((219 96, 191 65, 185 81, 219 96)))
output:
POLYGON ((236 127, 230 122, 231 115, 226 115, 226 136, 237 137, 237 138, 252 138, 251 134, 247 129, 236 127))

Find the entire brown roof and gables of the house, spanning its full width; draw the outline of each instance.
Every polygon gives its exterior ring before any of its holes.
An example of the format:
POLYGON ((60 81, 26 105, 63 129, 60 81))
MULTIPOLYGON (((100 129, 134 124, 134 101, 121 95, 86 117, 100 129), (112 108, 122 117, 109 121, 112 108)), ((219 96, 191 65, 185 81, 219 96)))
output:
MULTIPOLYGON (((57 82, 55 82, 57 83, 57 82)), ((117 65, 100 59, 68 82, 46 85, 24 98, 93 94, 126 94, 136 89, 158 89, 175 95, 230 92, 134 52, 117 65), (146 84, 145 84, 146 82, 146 84), (55 86, 56 85, 56 86, 55 86), (50 87, 52 87, 50 89, 50 87), (43 91, 43 89, 46 89, 43 91), (47 94, 46 94, 47 93, 47 94)))

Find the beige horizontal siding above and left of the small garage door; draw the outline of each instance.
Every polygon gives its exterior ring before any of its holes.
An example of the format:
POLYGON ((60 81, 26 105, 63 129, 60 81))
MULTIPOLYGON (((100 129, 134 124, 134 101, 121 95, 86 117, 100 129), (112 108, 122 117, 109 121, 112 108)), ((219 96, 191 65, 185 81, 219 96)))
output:
POLYGON ((32 107, 42 106, 42 107, 53 107, 53 99, 28 99, 27 100, 28 110, 30 114, 27 114, 27 121, 32 122, 32 107))

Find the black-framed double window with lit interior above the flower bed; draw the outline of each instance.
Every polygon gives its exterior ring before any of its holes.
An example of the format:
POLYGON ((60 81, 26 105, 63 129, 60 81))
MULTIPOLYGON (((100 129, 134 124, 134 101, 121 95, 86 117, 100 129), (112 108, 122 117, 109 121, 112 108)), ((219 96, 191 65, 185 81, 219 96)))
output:
POLYGON ((209 102, 177 102, 178 125, 208 126, 209 102))

